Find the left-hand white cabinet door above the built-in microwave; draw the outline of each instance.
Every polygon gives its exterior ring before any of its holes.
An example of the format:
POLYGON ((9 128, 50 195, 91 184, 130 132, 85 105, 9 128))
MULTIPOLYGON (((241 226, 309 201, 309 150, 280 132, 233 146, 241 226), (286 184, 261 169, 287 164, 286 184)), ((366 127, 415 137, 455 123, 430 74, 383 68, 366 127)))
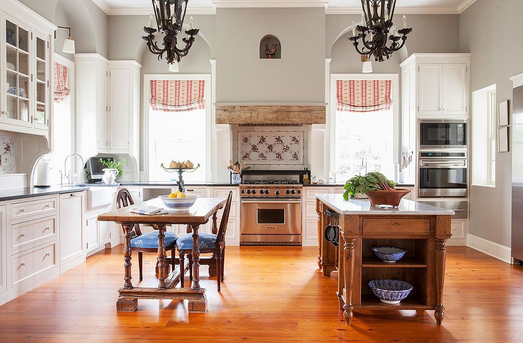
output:
POLYGON ((442 64, 419 64, 419 115, 441 114, 442 64))

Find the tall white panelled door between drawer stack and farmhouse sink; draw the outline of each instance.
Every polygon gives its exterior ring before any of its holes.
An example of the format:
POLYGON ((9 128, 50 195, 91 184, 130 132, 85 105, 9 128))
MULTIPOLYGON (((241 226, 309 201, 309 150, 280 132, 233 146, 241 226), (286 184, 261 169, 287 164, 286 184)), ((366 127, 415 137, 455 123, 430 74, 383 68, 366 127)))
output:
POLYGON ((85 192, 60 195, 60 273, 84 262, 83 223, 85 192))

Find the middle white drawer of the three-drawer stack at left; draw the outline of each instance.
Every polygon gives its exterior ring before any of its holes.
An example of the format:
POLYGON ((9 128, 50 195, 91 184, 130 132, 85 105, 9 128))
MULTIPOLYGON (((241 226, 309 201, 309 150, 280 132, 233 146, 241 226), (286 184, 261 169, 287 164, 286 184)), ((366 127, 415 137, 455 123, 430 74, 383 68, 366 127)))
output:
POLYGON ((11 226, 11 249, 20 250, 51 237, 56 237, 56 216, 14 224, 11 226))

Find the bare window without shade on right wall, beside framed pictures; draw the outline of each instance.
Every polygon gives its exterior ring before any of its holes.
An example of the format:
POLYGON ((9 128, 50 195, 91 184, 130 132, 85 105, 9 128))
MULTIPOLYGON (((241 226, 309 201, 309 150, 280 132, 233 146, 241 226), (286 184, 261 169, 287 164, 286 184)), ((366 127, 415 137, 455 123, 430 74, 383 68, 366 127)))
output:
POLYGON ((472 92, 472 184, 496 184, 496 85, 472 92))

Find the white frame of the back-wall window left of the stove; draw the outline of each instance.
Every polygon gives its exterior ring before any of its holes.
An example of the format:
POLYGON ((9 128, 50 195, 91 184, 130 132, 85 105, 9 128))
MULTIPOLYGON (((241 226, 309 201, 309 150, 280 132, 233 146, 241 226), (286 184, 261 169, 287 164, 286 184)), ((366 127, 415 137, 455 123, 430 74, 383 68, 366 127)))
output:
MULTIPOLYGON (((206 151, 205 161, 199 163, 206 165, 205 178, 206 181, 211 180, 212 168, 211 168, 211 132, 212 132, 212 85, 211 85, 211 74, 144 74, 143 75, 143 173, 144 179, 149 180, 149 168, 151 165, 152 154, 149 153, 151 134, 150 134, 150 104, 151 99, 151 80, 204 80, 205 81, 205 112, 206 112, 206 125, 205 125, 205 137, 206 137, 206 151), (147 157, 145 157, 147 156, 147 157)), ((160 166, 158 166, 160 168, 160 166)))

